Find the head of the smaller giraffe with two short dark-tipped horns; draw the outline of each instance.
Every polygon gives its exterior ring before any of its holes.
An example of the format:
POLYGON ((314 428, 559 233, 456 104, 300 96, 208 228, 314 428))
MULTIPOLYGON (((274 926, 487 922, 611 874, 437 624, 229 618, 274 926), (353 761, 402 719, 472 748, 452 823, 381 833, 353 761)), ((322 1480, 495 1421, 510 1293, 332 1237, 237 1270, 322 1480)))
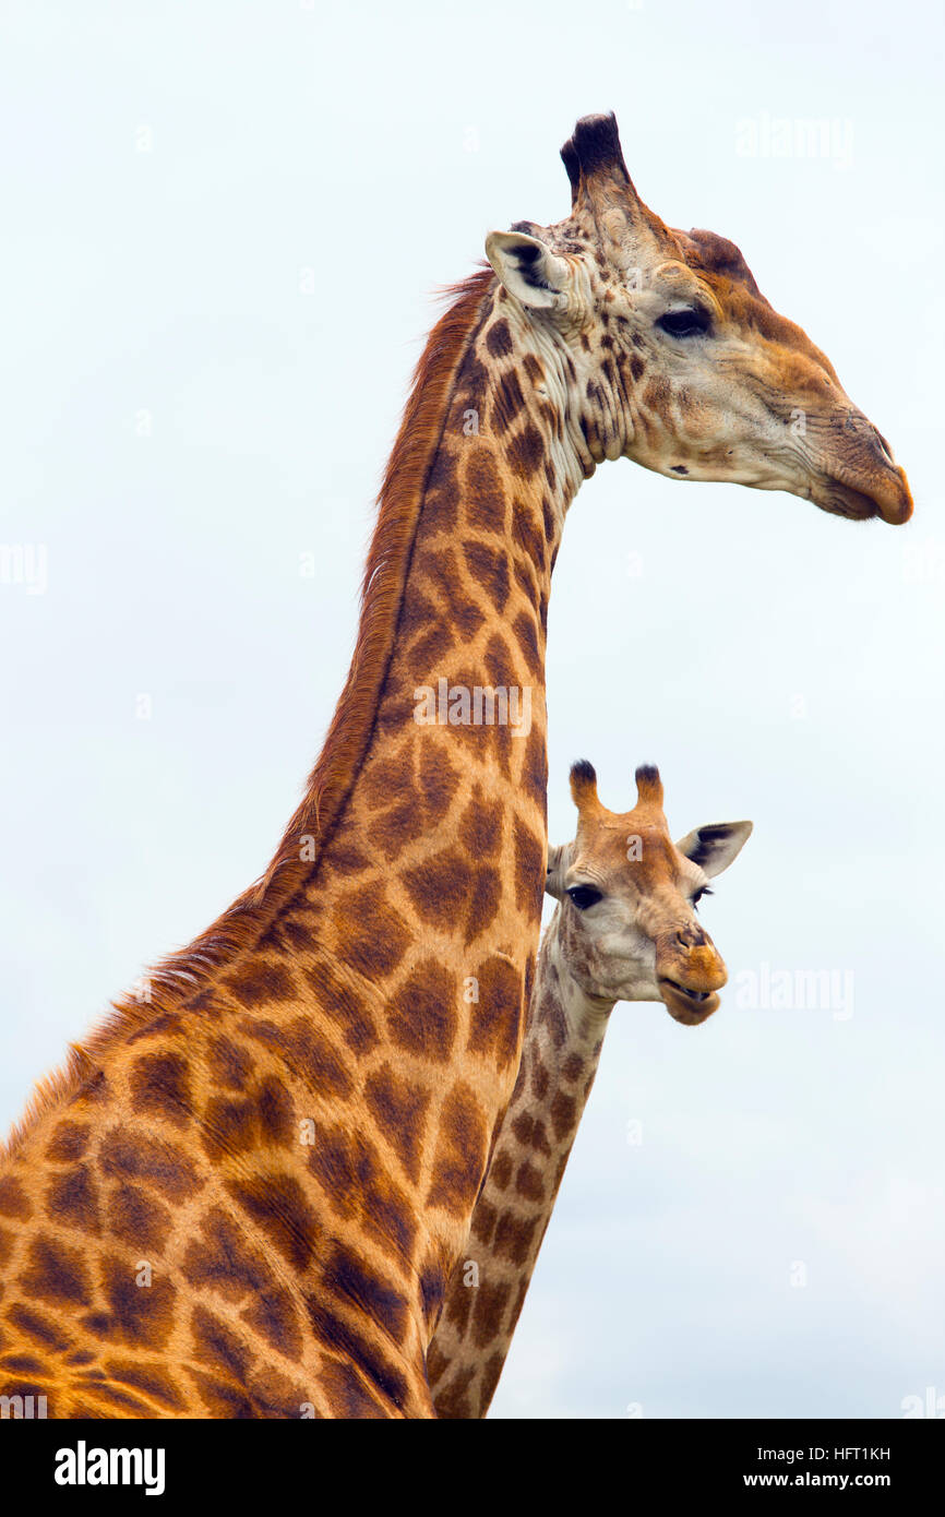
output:
MULTIPOLYGON (((551 848, 546 890, 560 901, 564 966, 602 1001, 664 1001, 678 1022, 704 1022, 719 1006, 725 965, 696 915, 708 880, 727 869, 751 822, 696 827, 673 843, 663 783, 637 769, 637 804, 608 812, 586 760, 570 771, 578 836, 551 848)), ((708 892, 711 894, 711 892, 708 892)))

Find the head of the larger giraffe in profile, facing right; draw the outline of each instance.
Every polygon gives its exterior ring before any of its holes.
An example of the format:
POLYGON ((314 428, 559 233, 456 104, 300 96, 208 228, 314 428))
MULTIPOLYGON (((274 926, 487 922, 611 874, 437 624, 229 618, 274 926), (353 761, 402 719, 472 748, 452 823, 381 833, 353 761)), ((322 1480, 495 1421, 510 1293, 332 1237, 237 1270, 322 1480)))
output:
POLYGON ((584 472, 626 457, 672 479, 906 522, 912 496, 889 444, 736 244, 669 228, 643 205, 613 115, 578 121, 561 156, 570 215, 491 232, 485 252, 531 328, 549 397, 561 391, 584 472))

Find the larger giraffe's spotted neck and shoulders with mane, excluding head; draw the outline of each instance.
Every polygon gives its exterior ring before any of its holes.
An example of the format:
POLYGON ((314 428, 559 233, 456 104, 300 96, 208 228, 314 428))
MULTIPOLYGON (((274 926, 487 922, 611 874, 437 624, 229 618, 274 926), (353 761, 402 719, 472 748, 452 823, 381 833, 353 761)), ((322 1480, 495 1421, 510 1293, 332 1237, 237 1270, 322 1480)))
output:
POLYGON ((523 331, 476 276, 431 335, 352 672, 270 872, 8 1154, 0 1370, 50 1415, 431 1409, 426 1343, 519 1065, 545 613, 590 467, 523 331))

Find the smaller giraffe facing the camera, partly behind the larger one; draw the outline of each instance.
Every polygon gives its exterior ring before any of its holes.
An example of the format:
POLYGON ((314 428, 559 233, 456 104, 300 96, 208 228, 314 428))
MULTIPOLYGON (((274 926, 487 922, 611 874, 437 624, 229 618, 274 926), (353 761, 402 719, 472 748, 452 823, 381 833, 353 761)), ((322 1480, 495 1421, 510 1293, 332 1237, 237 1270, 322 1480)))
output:
POLYGON ((645 765, 636 781, 637 804, 614 813, 598 799, 592 765, 570 771, 578 834, 549 850, 545 889, 560 904, 542 941, 519 1077, 429 1346, 438 1417, 488 1409, 616 1003, 661 1000, 690 1027, 719 1006, 725 965, 695 909, 751 822, 698 827, 673 843, 658 771, 645 765))

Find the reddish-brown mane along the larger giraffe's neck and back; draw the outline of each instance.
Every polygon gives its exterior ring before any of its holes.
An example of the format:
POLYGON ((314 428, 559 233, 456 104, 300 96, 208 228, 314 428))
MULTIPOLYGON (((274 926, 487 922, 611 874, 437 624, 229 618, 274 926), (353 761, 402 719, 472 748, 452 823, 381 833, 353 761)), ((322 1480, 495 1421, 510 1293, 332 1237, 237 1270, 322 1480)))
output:
POLYGON ((168 954, 144 980, 147 1000, 127 991, 112 1001, 80 1044, 68 1045, 65 1063, 36 1080, 26 1109, 14 1123, 0 1159, 12 1156, 36 1123, 64 1104, 89 1079, 99 1060, 120 1041, 185 1004, 199 1007, 220 969, 262 936, 302 883, 317 869, 367 752, 394 634, 420 507, 449 399, 482 297, 494 282, 488 265, 438 294, 452 303, 432 328, 414 370, 413 387, 378 495, 378 520, 361 583, 361 616, 347 680, 335 705, 322 752, 305 795, 264 874, 187 948, 168 954), (302 859, 302 840, 314 839, 302 859))

